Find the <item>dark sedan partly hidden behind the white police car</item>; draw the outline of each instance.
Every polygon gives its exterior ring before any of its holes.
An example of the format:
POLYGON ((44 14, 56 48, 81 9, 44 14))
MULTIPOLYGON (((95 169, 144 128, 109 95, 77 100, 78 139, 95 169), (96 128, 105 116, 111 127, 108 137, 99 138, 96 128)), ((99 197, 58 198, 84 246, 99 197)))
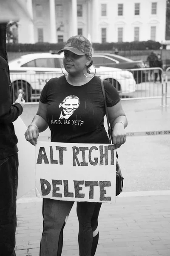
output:
MULTIPOLYGON (((111 53, 94 53, 93 60, 95 67, 116 67, 127 70, 136 68, 146 68, 146 65, 142 60, 133 61, 129 58, 125 58, 120 55, 111 53)), ((146 70, 132 71, 132 73, 137 84, 148 80, 148 73, 146 70)))

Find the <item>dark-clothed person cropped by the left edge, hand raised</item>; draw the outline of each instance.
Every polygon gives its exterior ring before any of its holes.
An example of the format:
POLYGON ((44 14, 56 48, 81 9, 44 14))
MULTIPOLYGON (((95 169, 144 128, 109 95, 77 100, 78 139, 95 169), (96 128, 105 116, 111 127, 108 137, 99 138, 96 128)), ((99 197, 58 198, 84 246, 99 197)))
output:
POLYGON ((17 227, 18 148, 14 122, 23 112, 25 100, 20 93, 12 101, 6 53, 6 23, 0 23, 0 255, 15 256, 17 227))

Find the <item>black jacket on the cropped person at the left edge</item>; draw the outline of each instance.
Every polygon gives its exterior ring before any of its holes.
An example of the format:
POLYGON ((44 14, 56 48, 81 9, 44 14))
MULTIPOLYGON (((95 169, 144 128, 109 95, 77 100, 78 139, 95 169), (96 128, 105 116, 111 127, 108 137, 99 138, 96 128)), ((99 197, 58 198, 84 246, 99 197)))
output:
POLYGON ((14 122, 23 112, 19 103, 12 104, 12 87, 9 82, 8 63, 0 56, 0 159, 18 152, 14 122))

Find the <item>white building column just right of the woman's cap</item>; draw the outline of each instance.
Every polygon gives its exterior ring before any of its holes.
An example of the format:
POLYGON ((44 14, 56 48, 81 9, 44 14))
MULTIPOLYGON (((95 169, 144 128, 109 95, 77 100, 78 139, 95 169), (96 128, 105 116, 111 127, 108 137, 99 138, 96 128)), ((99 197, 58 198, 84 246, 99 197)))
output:
POLYGON ((99 1, 92 0, 91 7, 91 24, 92 24, 92 32, 91 32, 91 41, 93 43, 99 43, 99 1))

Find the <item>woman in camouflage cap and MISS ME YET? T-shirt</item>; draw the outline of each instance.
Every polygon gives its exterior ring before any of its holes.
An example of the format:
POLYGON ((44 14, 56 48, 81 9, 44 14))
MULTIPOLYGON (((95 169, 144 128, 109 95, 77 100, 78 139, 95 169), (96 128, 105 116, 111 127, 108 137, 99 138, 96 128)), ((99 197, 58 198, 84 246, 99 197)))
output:
MULTIPOLYGON (((82 35, 68 39, 64 52, 64 76, 49 80, 41 93, 39 108, 25 133, 26 140, 37 144, 39 133, 48 126, 51 142, 109 143, 104 128, 105 103, 101 79, 92 76, 90 41, 82 35)), ((126 141, 127 118, 120 97, 110 82, 105 82, 113 143, 119 148, 126 141)), ((43 198, 43 233, 40 256, 61 256, 63 229, 74 202, 43 198)), ((94 256, 99 239, 98 216, 101 203, 77 202, 79 255, 94 256)))

